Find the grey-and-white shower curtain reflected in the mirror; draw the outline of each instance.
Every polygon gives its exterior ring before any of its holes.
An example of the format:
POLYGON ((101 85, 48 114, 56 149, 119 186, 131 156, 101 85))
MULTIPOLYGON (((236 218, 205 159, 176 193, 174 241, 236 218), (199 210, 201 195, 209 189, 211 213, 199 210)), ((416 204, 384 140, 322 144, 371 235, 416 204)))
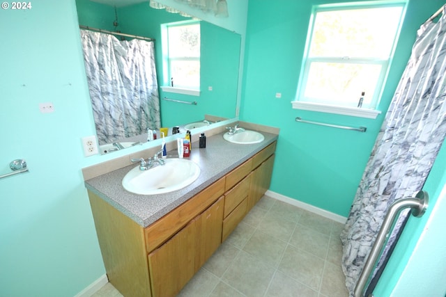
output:
POLYGON ((86 77, 100 144, 159 129, 153 42, 120 41, 81 30, 86 77))

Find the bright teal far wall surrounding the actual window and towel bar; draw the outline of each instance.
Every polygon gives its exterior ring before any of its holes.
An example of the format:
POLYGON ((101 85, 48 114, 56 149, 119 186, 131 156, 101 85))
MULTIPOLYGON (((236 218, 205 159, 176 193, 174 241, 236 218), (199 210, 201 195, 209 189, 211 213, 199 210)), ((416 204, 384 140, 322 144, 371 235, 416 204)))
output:
POLYGON ((313 4, 249 1, 240 119, 280 128, 271 191, 347 216, 415 34, 443 0, 411 0, 376 120, 292 109, 313 4), (282 93, 281 99, 275 94, 282 93), (295 122, 295 117, 367 127, 358 133, 295 122))

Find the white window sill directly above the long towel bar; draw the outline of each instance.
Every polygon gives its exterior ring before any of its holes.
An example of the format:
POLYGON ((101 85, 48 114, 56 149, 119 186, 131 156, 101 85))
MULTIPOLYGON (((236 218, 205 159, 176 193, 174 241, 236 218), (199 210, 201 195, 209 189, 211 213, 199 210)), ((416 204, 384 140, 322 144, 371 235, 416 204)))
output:
POLYGON ((376 111, 374 109, 357 109, 355 107, 334 106, 310 102, 292 101, 291 104, 293 104, 293 109, 320 111, 322 113, 337 113, 338 115, 351 115, 359 118, 376 119, 376 117, 381 113, 380 111, 376 111))

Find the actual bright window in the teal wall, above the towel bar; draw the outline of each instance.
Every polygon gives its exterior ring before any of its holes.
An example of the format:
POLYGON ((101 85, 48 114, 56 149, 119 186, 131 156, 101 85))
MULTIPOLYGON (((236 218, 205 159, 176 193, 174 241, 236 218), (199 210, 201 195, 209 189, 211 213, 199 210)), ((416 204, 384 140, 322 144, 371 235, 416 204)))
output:
POLYGON ((293 107, 323 106, 318 110, 343 113, 339 111, 357 110, 364 93, 362 109, 374 110, 405 5, 387 1, 385 5, 315 6, 293 107), (337 109, 330 111, 330 106, 337 109))

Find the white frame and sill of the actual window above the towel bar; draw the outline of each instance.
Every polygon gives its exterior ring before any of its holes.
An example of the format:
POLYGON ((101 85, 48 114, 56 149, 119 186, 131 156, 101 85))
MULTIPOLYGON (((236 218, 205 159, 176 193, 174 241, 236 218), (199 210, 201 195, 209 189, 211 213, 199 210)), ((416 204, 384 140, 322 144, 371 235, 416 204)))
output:
MULTIPOLYGON (((302 60, 302 68, 300 71, 300 81, 298 83, 298 90, 296 92, 295 100, 291 102, 293 109, 302 109, 307 111, 320 111, 324 113, 337 113, 341 115, 352 115, 361 118, 376 118, 381 112, 376 110, 380 102, 380 97, 382 96, 383 89, 385 86, 385 81, 387 79, 387 74, 392 63, 392 58, 394 56, 394 50, 397 45, 397 40, 399 38, 399 33, 401 31, 401 25, 403 17, 406 13, 406 0, 396 0, 396 1, 367 1, 367 2, 355 2, 355 3, 337 3, 337 4, 326 4, 313 6, 312 16, 309 22, 309 29, 307 33, 307 41, 305 44, 305 53, 302 60), (383 7, 394 7, 401 6, 402 13, 399 20, 399 26, 395 34, 394 42, 392 45, 392 50, 390 56, 387 59, 375 58, 375 59, 363 59, 348 57, 309 57, 309 49, 312 45, 312 35, 314 30, 314 22, 316 20, 316 13, 334 11, 334 10, 348 10, 348 9, 367 9, 367 8, 383 8, 383 7), (341 106, 326 104, 324 102, 317 102, 314 100, 301 99, 301 94, 304 92, 305 86, 307 84, 307 79, 309 75, 309 69, 314 62, 330 62, 330 63, 365 63, 368 65, 381 65, 381 72, 378 77, 378 82, 376 83, 374 95, 371 100, 371 107, 373 109, 358 109, 351 106, 341 106)), ((359 96, 358 96, 359 99, 359 96)))

